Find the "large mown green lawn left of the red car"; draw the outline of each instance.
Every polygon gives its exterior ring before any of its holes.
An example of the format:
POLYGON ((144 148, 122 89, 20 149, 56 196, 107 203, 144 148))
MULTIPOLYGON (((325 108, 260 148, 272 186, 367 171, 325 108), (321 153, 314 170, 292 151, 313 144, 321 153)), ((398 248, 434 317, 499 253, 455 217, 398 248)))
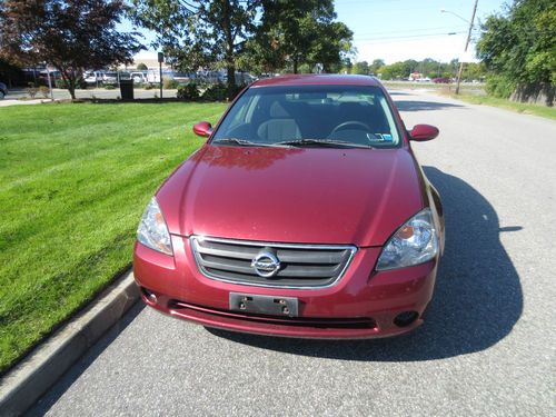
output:
POLYGON ((131 264, 141 212, 224 103, 0 109, 0 373, 131 264))

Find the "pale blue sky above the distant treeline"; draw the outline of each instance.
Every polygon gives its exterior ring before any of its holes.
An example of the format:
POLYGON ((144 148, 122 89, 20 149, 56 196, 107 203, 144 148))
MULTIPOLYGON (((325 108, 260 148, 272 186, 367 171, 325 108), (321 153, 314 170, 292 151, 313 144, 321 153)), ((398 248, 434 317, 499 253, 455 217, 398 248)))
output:
MULTIPOLYGON (((479 0, 478 20, 502 11, 505 3, 506 0, 479 0)), ((380 58, 386 63, 424 58, 449 61, 459 57, 467 37, 465 20, 470 20, 473 4, 474 0, 335 1, 338 20, 354 31, 356 60, 370 62, 380 58), (443 13, 441 9, 448 12, 443 13)), ((129 23, 122 24, 122 30, 129 30, 129 23)), ((152 34, 145 34, 147 40, 152 39, 152 34)), ((138 58, 155 56, 153 51, 143 51, 138 58)))

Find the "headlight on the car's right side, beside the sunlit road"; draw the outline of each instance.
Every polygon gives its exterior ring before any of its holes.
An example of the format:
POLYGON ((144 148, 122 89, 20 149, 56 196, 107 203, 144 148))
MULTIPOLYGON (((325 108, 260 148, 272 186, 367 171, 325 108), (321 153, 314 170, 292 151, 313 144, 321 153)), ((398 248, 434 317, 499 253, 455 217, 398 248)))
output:
POLYGON ((388 240, 377 262, 377 270, 419 265, 438 252, 438 236, 430 209, 411 217, 388 240))

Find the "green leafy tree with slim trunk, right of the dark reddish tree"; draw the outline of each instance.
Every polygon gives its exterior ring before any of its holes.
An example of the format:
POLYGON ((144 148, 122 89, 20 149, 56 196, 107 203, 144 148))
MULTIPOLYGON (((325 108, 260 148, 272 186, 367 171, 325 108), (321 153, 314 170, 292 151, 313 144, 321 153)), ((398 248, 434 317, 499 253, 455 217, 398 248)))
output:
POLYGON ((236 91, 237 59, 255 30, 260 0, 132 0, 137 23, 157 33, 153 47, 182 70, 224 62, 228 97, 236 91))

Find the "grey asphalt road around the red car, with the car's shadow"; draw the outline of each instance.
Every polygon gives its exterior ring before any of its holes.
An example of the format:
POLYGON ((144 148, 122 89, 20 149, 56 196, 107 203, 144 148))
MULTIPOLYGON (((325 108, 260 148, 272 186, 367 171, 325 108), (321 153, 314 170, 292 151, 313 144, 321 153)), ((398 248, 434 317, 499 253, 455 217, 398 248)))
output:
POLYGON ((374 341, 224 331, 142 306, 33 409, 52 416, 554 416, 556 122, 396 92, 446 210, 428 321, 374 341))

